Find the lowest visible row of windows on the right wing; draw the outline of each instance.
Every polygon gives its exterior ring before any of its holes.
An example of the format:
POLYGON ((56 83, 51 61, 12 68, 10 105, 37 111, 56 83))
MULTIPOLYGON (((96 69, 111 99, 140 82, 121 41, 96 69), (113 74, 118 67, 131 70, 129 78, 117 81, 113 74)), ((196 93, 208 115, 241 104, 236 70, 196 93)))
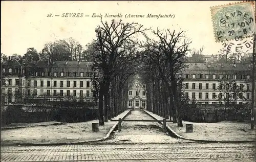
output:
MULTIPOLYGON (((198 98, 199 99, 202 99, 202 92, 198 92, 198 98)), ((188 92, 185 92, 185 97, 188 99, 189 98, 189 95, 188 95, 188 92)), ((219 93, 219 95, 216 95, 215 92, 212 93, 212 99, 222 99, 224 96, 223 96, 223 93, 219 93)), ((233 99, 241 99, 243 100, 244 99, 244 96, 242 93, 239 94, 239 96, 234 96, 234 95, 231 95, 229 93, 226 93, 226 99, 230 99, 230 98, 233 98, 233 99)), ((192 99, 196 99, 196 92, 192 92, 192 99)), ((205 92, 205 99, 209 99, 209 93, 208 92, 205 92)), ((250 93, 247 93, 246 94, 246 99, 250 99, 250 93)))

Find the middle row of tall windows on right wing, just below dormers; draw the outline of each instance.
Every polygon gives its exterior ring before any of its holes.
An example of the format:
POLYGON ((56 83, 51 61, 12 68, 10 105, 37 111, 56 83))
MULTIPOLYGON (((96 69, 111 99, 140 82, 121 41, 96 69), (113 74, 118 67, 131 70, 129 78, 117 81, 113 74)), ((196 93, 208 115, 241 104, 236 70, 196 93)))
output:
MULTIPOLYGON (((199 83, 198 89, 202 89, 202 83, 199 83)), ((237 84, 234 84, 234 86, 237 86, 237 84)), ((229 84, 226 84, 226 89, 230 88, 229 84)), ((185 83, 185 89, 189 89, 189 84, 185 83)), ((192 83, 192 89, 196 89, 196 83, 192 83)), ((205 83, 205 89, 209 89, 209 83, 205 83)), ((223 89, 223 85, 219 85, 219 87, 216 86, 216 83, 212 83, 212 89, 223 89)), ((244 89, 244 84, 240 84, 240 90, 244 89)), ((246 90, 250 90, 250 84, 246 84, 246 90)))

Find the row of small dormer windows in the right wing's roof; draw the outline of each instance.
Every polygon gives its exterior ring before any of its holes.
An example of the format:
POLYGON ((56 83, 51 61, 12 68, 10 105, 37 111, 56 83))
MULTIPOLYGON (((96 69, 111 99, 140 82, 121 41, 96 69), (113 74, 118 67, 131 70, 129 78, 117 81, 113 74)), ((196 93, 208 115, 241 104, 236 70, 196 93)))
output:
POLYGON ((185 74, 185 79, 223 79, 223 77, 225 77, 225 79, 250 79, 249 75, 209 75, 209 74, 185 74), (191 75, 191 76, 190 76, 191 75))

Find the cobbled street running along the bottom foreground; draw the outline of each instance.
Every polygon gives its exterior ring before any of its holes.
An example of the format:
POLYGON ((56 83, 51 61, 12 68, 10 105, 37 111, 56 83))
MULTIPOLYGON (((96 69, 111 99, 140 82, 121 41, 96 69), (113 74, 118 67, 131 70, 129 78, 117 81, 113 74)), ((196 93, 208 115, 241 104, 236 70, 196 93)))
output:
POLYGON ((114 144, 1 147, 1 161, 255 161, 255 144, 114 144))

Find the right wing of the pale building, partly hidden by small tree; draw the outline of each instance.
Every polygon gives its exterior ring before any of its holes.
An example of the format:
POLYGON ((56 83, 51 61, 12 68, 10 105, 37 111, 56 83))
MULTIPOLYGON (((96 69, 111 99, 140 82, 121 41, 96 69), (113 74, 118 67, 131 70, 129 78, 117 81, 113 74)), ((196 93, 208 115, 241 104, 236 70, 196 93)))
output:
POLYGON ((185 97, 190 101, 196 99, 200 104, 223 104, 224 97, 228 98, 227 95, 232 93, 223 90, 225 89, 223 85, 219 85, 222 80, 227 82, 233 80, 241 88, 234 104, 245 104, 251 101, 250 65, 188 63, 188 67, 182 73, 185 97))

